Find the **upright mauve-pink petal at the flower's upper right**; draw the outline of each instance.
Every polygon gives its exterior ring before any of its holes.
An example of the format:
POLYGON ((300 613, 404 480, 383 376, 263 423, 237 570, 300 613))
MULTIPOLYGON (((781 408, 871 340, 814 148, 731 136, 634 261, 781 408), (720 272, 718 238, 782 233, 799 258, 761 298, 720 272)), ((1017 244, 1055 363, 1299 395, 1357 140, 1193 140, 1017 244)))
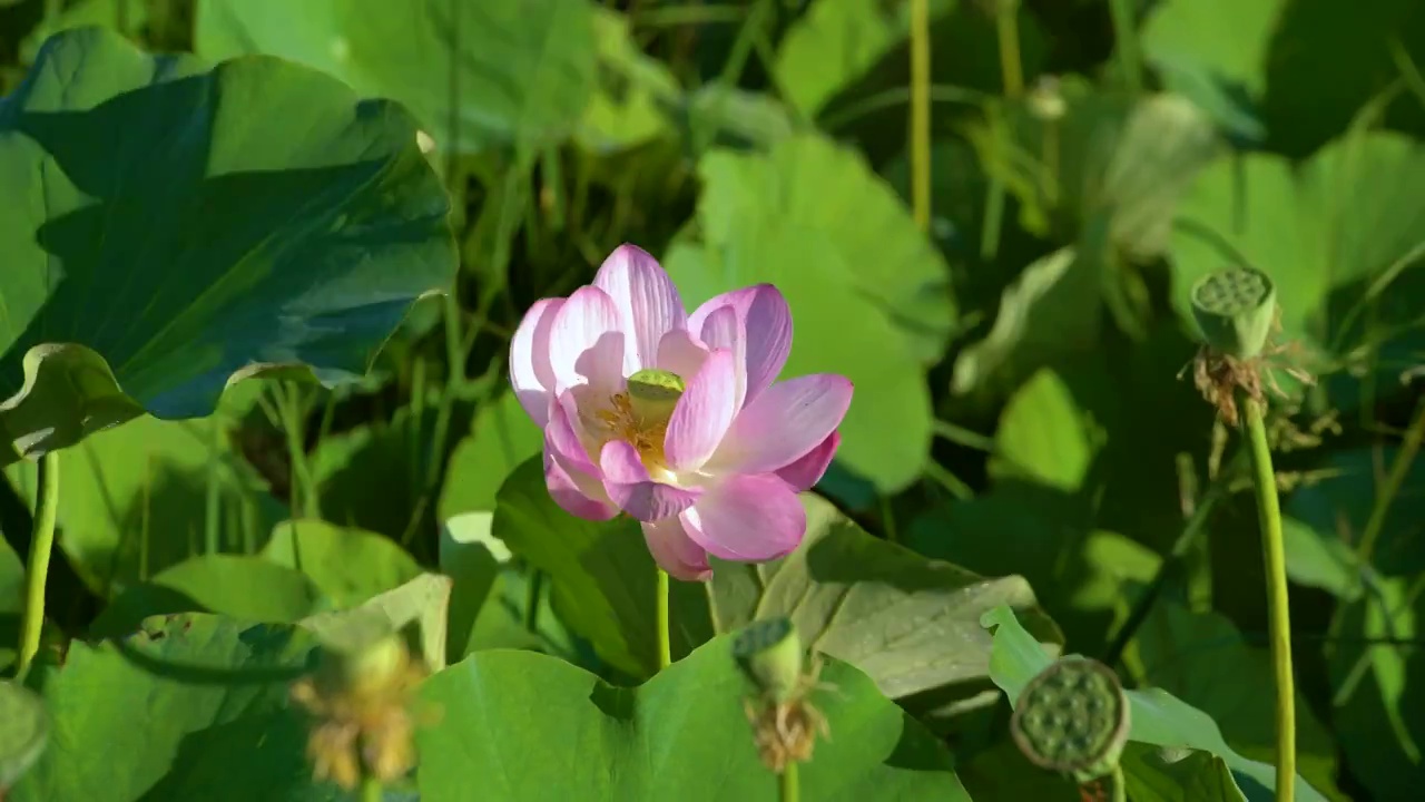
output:
POLYGON ((725 347, 714 341, 708 320, 720 308, 737 314, 735 337, 742 341, 740 351, 742 372, 747 375, 745 401, 767 390, 792 351, 792 313, 787 298, 771 284, 757 284, 724 293, 703 304, 688 317, 688 330, 697 333, 710 347, 725 347))

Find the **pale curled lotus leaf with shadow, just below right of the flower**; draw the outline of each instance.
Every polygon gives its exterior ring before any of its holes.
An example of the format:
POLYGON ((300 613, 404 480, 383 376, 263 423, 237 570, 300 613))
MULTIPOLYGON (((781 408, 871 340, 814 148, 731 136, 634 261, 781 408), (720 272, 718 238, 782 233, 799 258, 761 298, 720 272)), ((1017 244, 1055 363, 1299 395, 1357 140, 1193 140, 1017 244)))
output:
POLYGON ((1022 577, 986 578, 925 559, 868 535, 829 501, 804 494, 802 504, 807 538, 791 555, 714 567, 718 632, 785 615, 807 642, 855 664, 886 696, 903 704, 923 694, 939 709, 963 709, 988 686, 990 638, 979 624, 986 611, 1010 605, 1040 638, 1062 642, 1022 577))

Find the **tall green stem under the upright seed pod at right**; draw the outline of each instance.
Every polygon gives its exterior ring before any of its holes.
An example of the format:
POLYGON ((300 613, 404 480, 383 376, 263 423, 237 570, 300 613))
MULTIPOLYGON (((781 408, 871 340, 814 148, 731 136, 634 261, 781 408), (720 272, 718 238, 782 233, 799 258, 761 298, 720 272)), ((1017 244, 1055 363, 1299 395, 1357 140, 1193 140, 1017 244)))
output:
POLYGON ((1243 435, 1251 455, 1257 489, 1257 518, 1267 571, 1267 614, 1271 635, 1271 664, 1277 675, 1277 802, 1291 802, 1297 779, 1297 692, 1291 675, 1291 611, 1287 606, 1287 552, 1281 537, 1281 505, 1271 447, 1263 422, 1263 404, 1243 398, 1243 435))

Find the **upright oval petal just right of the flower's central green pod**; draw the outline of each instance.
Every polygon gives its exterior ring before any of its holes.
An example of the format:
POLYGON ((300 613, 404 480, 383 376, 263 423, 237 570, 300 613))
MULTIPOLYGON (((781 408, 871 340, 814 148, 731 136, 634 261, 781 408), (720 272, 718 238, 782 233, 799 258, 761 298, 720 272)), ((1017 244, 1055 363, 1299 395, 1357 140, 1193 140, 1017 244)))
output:
POLYGON ((708 354, 673 408, 663 441, 664 457, 674 471, 695 471, 717 451, 727 427, 737 415, 737 368, 732 352, 718 348, 708 354))

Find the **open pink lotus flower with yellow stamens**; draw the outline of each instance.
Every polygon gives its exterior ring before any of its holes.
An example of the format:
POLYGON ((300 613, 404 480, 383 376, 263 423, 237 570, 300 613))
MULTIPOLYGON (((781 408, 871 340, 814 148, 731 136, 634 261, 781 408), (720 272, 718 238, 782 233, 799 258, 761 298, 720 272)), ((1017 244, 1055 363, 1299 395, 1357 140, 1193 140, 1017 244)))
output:
POLYGON ((580 518, 637 518, 680 579, 707 579, 708 554, 787 555, 807 534, 797 494, 826 472, 852 392, 835 374, 775 381, 791 344, 775 287, 688 315, 657 260, 620 245, 593 285, 536 303, 510 344, 550 495, 580 518))

